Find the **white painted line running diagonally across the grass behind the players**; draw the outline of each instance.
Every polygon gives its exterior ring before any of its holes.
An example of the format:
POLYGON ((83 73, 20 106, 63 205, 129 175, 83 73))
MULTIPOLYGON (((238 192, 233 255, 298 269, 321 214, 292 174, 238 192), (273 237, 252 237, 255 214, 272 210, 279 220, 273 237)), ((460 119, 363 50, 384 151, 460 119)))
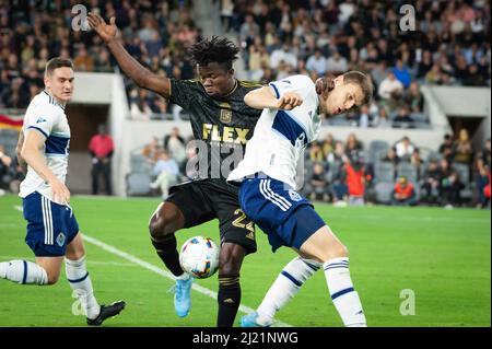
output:
MULTIPOLYGON (((22 207, 21 206, 14 206, 14 208, 17 211, 22 212, 22 207)), ((91 243, 91 244, 93 244, 93 245, 95 245, 95 246, 97 246, 97 247, 99 247, 99 248, 102 248, 102 249, 113 254, 113 255, 116 255, 118 257, 127 259, 127 260, 129 260, 129 261, 131 261, 131 263, 133 263, 136 265, 139 265, 142 268, 145 268, 145 269, 148 269, 150 271, 153 271, 153 272, 155 272, 155 274, 157 274, 157 275, 160 275, 160 276, 162 276, 164 278, 171 279, 173 281, 175 280, 174 276, 169 271, 164 270, 164 269, 162 269, 160 267, 156 267, 156 266, 154 266, 154 265, 152 265, 152 264, 150 264, 150 263, 148 263, 148 261, 145 261, 143 259, 140 259, 140 258, 138 258, 136 256, 132 256, 132 255, 130 255, 130 254, 128 254, 128 253, 126 253, 124 251, 120 251, 120 249, 116 248, 115 246, 108 245, 108 244, 106 244, 106 243, 104 243, 104 242, 102 242, 102 241, 99 241, 99 240, 97 240, 95 237, 89 236, 86 234, 82 234, 82 239, 84 241, 86 241, 87 243, 91 243)), ((212 290, 209 290, 209 289, 207 289, 207 288, 204 288, 202 286, 199 286, 196 282, 194 282, 192 289, 195 291, 197 291, 197 292, 200 292, 200 293, 202 293, 204 295, 208 295, 208 296, 216 300, 216 292, 214 292, 212 290)), ((243 313, 246 313, 246 314, 255 312, 254 309, 251 309, 249 306, 246 306, 246 305, 243 305, 243 304, 239 305, 239 311, 243 312, 243 313)), ((282 322, 279 322, 279 321, 274 322, 274 326, 276 327, 292 327, 292 325, 286 324, 286 323, 282 323, 282 322)))

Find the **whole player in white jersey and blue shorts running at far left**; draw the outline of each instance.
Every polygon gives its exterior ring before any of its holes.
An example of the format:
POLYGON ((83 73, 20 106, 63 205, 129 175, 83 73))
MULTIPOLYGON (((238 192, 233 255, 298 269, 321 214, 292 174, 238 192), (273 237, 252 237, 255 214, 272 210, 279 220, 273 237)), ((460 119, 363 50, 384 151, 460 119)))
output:
POLYGON ((54 284, 65 257, 67 279, 86 314, 87 325, 99 326, 125 307, 124 301, 99 305, 85 269, 85 251, 79 224, 65 185, 70 127, 65 105, 73 93, 71 60, 52 58, 45 69, 45 90, 31 101, 17 142, 17 158, 27 164, 21 183, 23 213, 27 221, 25 242, 36 263, 0 263, 0 278, 21 284, 54 284))

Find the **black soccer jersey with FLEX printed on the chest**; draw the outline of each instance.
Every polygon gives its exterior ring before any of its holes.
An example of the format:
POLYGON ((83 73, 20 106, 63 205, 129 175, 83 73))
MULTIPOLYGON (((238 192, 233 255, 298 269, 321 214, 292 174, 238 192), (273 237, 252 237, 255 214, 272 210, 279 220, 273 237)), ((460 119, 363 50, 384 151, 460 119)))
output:
POLYGON ((261 84, 236 80, 231 93, 212 98, 199 80, 171 79, 169 101, 190 116, 198 148, 199 178, 225 179, 241 160, 261 114, 244 96, 261 84))

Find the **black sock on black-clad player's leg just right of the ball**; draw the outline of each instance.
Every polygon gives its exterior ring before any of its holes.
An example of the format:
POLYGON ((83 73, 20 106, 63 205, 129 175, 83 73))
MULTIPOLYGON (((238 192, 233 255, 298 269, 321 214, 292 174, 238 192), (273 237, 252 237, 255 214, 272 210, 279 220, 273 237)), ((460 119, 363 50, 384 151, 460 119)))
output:
POLYGON ((219 276, 216 327, 232 327, 241 303, 239 276, 219 276))

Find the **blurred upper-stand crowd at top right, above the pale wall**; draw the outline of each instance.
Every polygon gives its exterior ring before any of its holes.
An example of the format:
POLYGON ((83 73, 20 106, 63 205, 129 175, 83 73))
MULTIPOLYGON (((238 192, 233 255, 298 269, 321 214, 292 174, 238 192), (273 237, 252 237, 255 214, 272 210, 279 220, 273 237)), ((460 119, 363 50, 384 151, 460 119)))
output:
POLYGON ((414 1, 414 31, 400 27, 407 2, 223 0, 222 19, 250 80, 361 70, 376 98, 344 124, 425 127, 420 84, 490 86, 490 1, 414 1))

